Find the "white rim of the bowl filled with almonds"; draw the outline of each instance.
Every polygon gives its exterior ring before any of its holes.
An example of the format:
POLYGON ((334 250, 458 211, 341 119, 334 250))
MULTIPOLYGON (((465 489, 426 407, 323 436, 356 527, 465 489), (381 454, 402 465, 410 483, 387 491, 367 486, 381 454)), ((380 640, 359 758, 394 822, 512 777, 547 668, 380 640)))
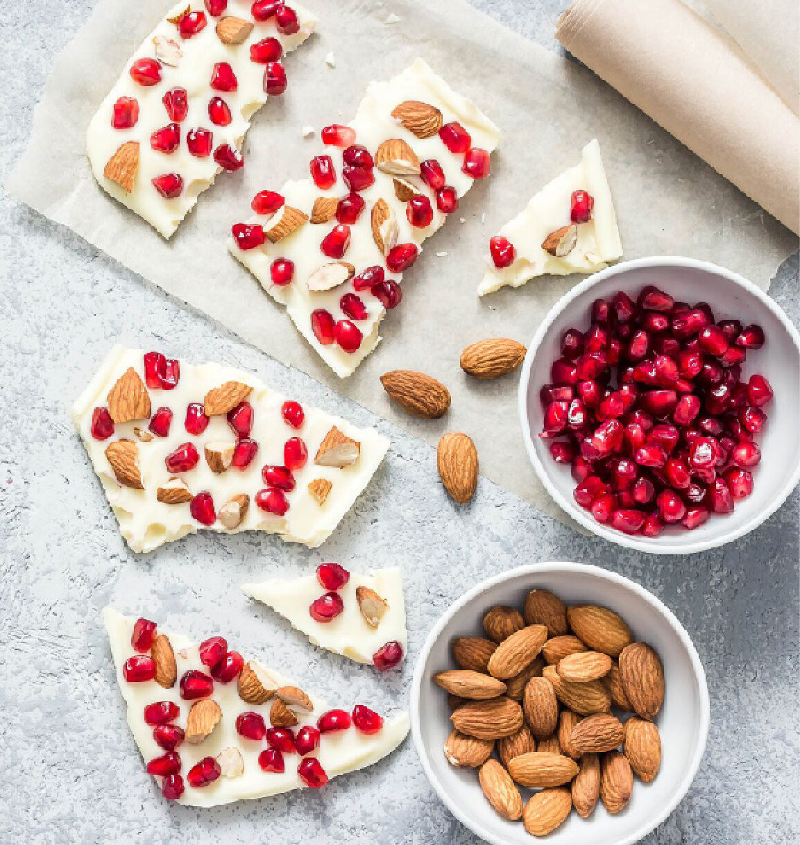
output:
POLYGON ((692 642, 692 638, 688 635, 688 631, 683 627, 675 614, 672 613, 672 610, 667 608, 667 605, 662 602, 660 598, 645 589, 645 587, 637 584, 636 581, 626 578, 624 575, 618 575, 616 572, 604 570, 601 566, 596 566, 594 564, 579 564, 571 561, 543 561, 538 564, 525 564, 524 566, 518 566, 513 570, 493 575, 484 581, 480 581, 456 599, 456 601, 439 617, 436 624, 433 625, 433 628, 428 633, 422 649, 419 652, 419 656, 416 658, 414 674, 411 679, 411 701, 409 705, 411 711, 411 736, 414 740, 416 755, 419 757, 420 762, 422 763, 422 769, 425 771, 427 779, 431 782, 431 785, 438 794, 439 799, 442 800, 447 809, 461 822, 462 825, 467 827, 473 833, 476 833, 485 842, 490 842, 492 845, 508 845, 508 840, 505 837, 496 837, 492 832, 476 826, 472 820, 467 819, 466 816, 461 813, 457 804, 455 804, 450 798, 449 793, 447 793, 444 789, 442 783, 439 782, 438 777, 436 777, 436 774, 433 771, 433 766, 431 766, 428 758, 427 748, 422 741, 422 728, 420 727, 420 693, 422 690, 422 675, 427 665, 427 659, 430 657, 433 644, 442 635, 442 632, 447 624, 449 624, 450 620, 453 619, 455 613, 457 613, 461 608, 465 607, 465 605, 469 604, 473 599, 480 597, 493 586, 502 584, 503 581, 510 581, 512 578, 525 575, 546 575, 548 572, 574 573, 576 575, 596 575, 605 581, 611 581, 618 586, 622 586, 623 589, 628 589, 629 591, 634 592, 637 596, 650 604, 650 606, 661 615, 661 618, 664 619, 678 635, 678 639, 686 649, 689 662, 694 670, 694 679, 697 683, 699 695, 699 742, 694 750, 694 756, 692 757, 691 763, 687 770, 683 773, 683 779, 678 785, 678 789, 676 789, 675 793, 673 793, 672 799, 667 801, 667 803, 663 805, 661 810, 659 810, 652 819, 647 820, 629 836, 621 838, 615 842, 615 845, 633 845, 634 842, 639 842, 639 839, 647 836, 647 834, 654 831, 662 821, 666 820, 667 816, 672 814, 672 811, 675 810, 678 804, 680 804, 686 796, 686 793, 688 793, 688 789, 694 781, 700 762, 705 754, 705 744, 708 739, 710 727, 710 700, 708 684, 705 679, 705 669, 703 668, 703 663, 700 661, 697 649, 694 647, 694 642, 692 642))

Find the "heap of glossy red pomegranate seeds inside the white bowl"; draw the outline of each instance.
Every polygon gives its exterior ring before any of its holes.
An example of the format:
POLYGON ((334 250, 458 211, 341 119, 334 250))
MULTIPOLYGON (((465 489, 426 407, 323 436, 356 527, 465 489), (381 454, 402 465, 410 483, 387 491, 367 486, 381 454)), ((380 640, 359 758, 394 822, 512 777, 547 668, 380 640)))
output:
POLYGON ((654 286, 592 304, 587 330, 567 330, 541 389, 554 461, 572 466, 574 499, 596 521, 656 537, 730 513, 753 491, 772 388, 743 379, 759 325, 717 320, 708 303, 654 286))

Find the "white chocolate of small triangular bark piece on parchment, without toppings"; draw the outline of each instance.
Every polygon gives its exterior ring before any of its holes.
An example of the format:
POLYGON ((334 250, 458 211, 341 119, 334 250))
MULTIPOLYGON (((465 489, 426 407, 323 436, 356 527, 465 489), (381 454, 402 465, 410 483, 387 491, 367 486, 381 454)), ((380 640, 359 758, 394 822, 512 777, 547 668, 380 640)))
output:
POLYGON ((586 144, 580 164, 541 188, 525 210, 506 223, 498 234, 514 245, 514 263, 498 269, 488 259, 488 270, 478 287, 480 296, 506 285, 520 287, 537 275, 594 273, 607 266, 607 262, 618 259, 623 247, 597 139, 586 144), (577 224, 578 240, 574 248, 557 258, 541 244, 551 232, 569 224, 569 198, 576 190, 591 194, 594 209, 588 222, 577 224))

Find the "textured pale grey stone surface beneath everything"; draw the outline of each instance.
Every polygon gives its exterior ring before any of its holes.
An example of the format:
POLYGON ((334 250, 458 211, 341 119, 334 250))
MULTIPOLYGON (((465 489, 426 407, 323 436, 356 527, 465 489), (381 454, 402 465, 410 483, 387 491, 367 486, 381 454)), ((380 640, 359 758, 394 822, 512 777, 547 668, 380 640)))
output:
MULTIPOLYGON (((555 49, 563 0, 472 0, 555 49)), ((23 148, 53 55, 90 0, 0 8, 4 181, 23 148)), ((90 57, 87 57, 90 61, 90 57)), ((476 73, 480 68, 476 68, 476 73)), ((57 144, 57 138, 53 139, 57 144)), ((644 584, 686 625, 705 663, 711 731, 699 775, 651 845, 794 842, 797 837, 798 495, 724 549, 645 558, 586 539, 487 482, 456 509, 426 445, 331 390, 244 346, 70 232, 0 195, 3 437, 0 439, 0 759, 3 843, 476 843, 429 787, 409 740, 377 766, 322 793, 219 810, 168 806, 142 771, 98 616, 114 602, 192 635, 226 633, 242 651, 292 671, 330 700, 400 706, 411 679, 308 646, 237 585, 268 570, 300 574, 323 558, 270 537, 188 537, 146 557, 124 546, 68 409, 113 342, 234 363, 279 390, 361 424, 393 449, 324 547, 347 564, 400 564, 411 657, 460 592, 536 560, 589 561, 644 584), (792 782, 795 786, 792 787, 792 782)), ((772 293, 797 321, 797 254, 772 293)))

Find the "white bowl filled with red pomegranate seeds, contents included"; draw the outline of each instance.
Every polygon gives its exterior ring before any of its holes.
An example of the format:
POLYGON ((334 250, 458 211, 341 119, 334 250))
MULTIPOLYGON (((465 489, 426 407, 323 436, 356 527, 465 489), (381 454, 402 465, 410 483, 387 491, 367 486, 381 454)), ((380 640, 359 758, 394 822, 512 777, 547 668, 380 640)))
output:
POLYGON ((753 531, 800 477, 800 335, 742 276, 618 264, 564 296, 520 375, 525 446, 600 537, 700 552, 753 531))

